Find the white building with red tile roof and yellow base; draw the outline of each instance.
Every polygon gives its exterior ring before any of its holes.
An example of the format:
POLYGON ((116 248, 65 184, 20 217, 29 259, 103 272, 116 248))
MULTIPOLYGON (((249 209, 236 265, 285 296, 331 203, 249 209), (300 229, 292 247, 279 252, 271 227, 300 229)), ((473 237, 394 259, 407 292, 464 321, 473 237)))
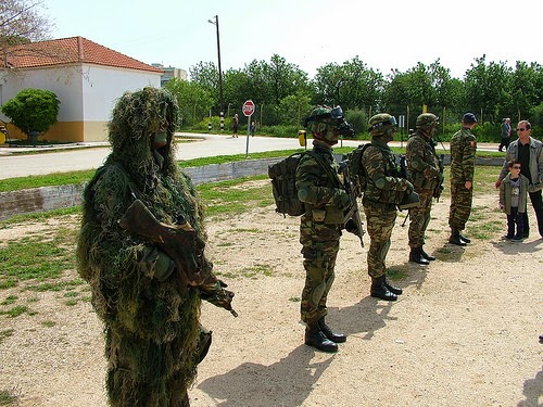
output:
MULTIPOLYGON (((159 88, 162 74, 83 37, 31 42, 8 49, 0 61, 0 104, 26 88, 50 90, 61 101, 59 122, 40 140, 103 141, 115 101, 126 91, 159 88)), ((14 137, 25 138, 10 125, 14 137)))

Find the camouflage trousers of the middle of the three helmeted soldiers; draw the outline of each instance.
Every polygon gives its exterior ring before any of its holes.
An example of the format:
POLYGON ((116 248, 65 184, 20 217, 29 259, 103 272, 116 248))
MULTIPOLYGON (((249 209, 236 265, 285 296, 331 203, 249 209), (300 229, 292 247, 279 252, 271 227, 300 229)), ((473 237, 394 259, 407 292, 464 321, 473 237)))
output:
POLYGON ((369 234, 368 275, 377 278, 387 272, 384 259, 389 253, 390 237, 396 220, 396 207, 394 205, 384 207, 364 205, 364 213, 369 234))

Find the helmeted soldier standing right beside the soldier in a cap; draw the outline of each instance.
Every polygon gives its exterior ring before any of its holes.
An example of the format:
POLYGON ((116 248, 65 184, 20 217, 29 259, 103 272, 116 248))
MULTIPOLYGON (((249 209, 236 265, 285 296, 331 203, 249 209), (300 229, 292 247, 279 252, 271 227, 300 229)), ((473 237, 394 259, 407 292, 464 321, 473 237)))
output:
MULTIPOLYGON (((420 206, 409 209, 409 262, 429 265, 435 257, 424 250, 425 232, 430 222, 432 198, 443 181, 443 169, 435 154, 435 135, 439 117, 422 113, 417 117, 417 130, 409 136, 405 155, 407 157, 408 179, 418 193, 420 206)), ((439 196, 439 194, 437 195, 439 196)))

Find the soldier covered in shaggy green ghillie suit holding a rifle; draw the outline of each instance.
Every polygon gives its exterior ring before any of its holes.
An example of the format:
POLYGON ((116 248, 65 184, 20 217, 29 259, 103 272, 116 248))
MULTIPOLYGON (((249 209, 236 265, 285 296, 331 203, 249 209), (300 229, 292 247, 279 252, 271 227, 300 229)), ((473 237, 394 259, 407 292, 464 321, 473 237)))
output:
POLYGON ((231 309, 233 294, 203 254, 202 206, 174 161, 176 112, 165 90, 125 93, 109 124, 112 153, 84 193, 78 270, 104 322, 112 406, 188 406, 211 344, 201 297, 231 309), (156 230, 138 230, 143 215, 156 230), (177 233, 181 250, 143 237, 160 230, 177 233))

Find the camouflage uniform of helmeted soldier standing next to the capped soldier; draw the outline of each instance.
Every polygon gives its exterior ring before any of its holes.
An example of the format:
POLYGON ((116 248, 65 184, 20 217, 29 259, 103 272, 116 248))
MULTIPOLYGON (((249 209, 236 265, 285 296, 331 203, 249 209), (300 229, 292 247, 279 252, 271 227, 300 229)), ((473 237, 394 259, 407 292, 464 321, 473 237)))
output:
POLYGON ((433 190, 443 179, 440 160, 431 138, 420 130, 411 135, 405 150, 408 179, 420 199, 420 206, 409 209, 409 247, 418 249, 425 244, 425 232, 430 222, 433 190))

